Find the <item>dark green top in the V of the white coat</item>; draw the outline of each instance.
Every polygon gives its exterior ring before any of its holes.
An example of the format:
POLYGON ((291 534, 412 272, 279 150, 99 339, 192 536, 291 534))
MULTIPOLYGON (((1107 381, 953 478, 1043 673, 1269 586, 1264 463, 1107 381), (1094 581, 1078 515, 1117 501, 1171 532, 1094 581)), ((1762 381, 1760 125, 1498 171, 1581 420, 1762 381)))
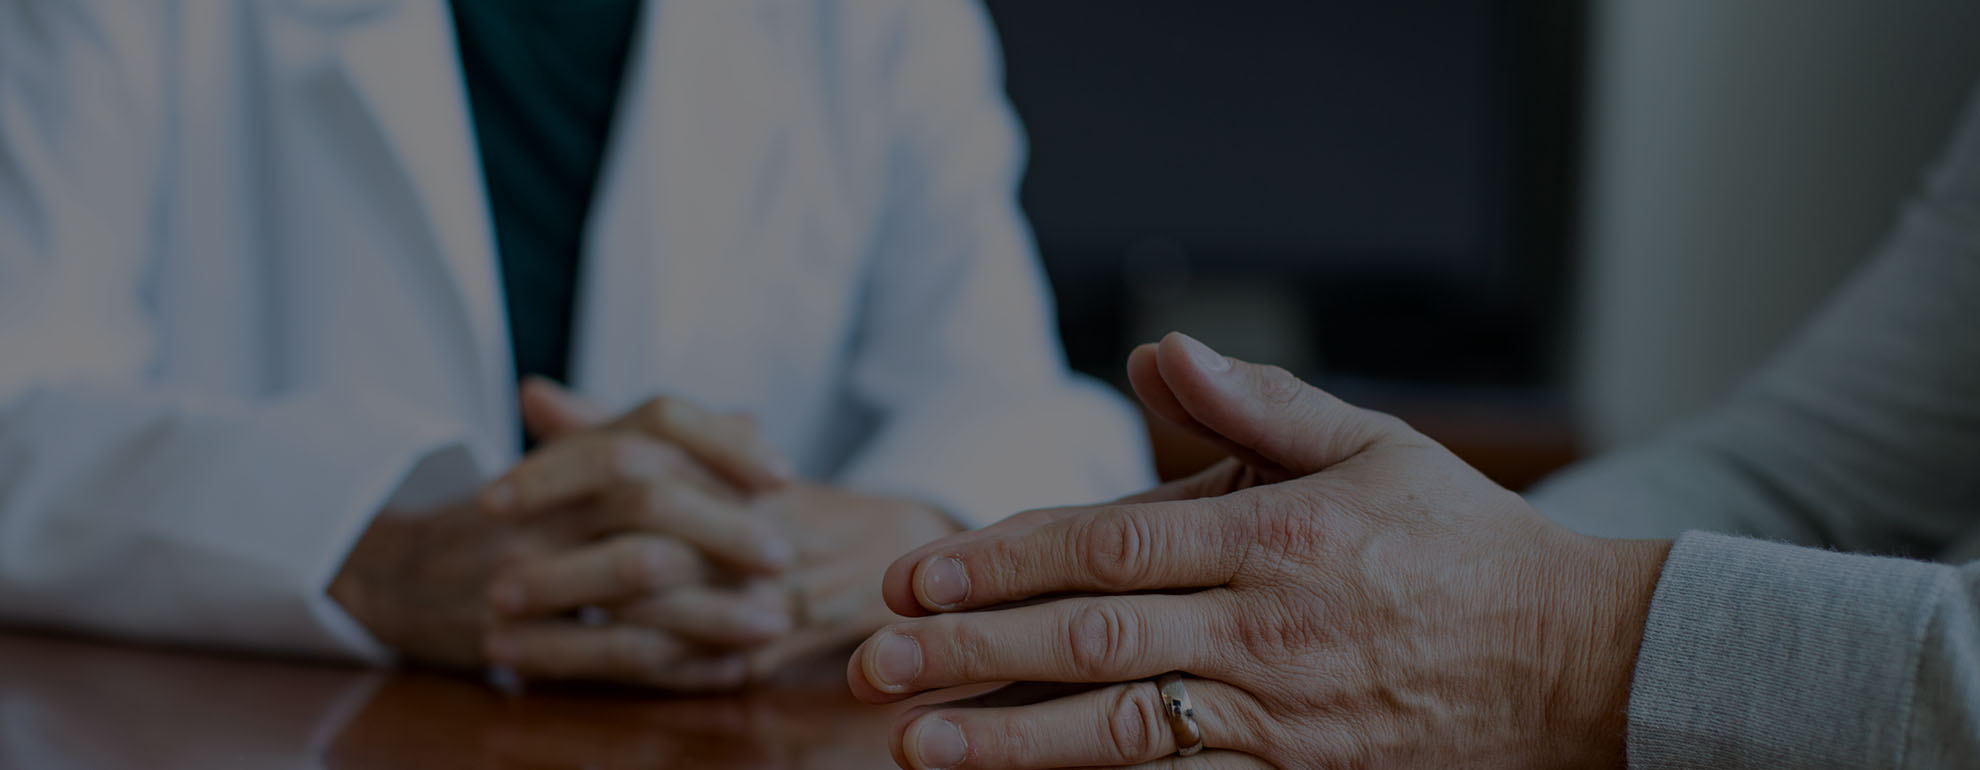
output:
POLYGON ((517 376, 568 382, 584 222, 640 0, 451 0, 517 376))

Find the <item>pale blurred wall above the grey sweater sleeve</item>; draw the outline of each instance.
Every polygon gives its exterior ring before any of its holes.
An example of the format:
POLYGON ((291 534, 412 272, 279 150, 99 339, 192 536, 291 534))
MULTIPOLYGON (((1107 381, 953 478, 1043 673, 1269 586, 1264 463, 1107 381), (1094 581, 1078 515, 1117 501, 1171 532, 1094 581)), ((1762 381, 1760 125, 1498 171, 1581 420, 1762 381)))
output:
POLYGON ((1980 2, 1594 0, 1588 441, 1723 398, 1891 224, 1980 77, 1980 2))

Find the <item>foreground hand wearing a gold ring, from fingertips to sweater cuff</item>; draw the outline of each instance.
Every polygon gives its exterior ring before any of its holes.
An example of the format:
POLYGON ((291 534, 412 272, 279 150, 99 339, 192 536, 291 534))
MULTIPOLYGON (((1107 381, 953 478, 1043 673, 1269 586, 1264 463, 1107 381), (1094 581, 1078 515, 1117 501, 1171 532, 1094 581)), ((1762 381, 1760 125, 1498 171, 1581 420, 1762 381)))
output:
POLYGON ((903 768, 1622 766, 1669 542, 1572 534, 1402 422, 1180 335, 1131 376, 1243 469, 897 560, 887 602, 923 618, 853 655, 861 699, 1101 685, 911 711, 903 768), (1208 744, 1188 760, 1148 681, 1168 671, 1208 744))

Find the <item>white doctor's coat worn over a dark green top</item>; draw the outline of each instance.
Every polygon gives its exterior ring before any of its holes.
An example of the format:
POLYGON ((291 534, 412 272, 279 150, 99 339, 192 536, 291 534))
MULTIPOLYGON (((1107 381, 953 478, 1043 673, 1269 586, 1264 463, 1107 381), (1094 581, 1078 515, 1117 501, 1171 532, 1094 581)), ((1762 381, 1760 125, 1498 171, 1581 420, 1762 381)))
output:
MULTIPOLYGON (((0 620, 368 657, 370 517, 517 459, 442 0, 0 0, 0 620)), ((649 0, 574 386, 984 523, 1146 483, 1069 376, 964 0, 649 0)))

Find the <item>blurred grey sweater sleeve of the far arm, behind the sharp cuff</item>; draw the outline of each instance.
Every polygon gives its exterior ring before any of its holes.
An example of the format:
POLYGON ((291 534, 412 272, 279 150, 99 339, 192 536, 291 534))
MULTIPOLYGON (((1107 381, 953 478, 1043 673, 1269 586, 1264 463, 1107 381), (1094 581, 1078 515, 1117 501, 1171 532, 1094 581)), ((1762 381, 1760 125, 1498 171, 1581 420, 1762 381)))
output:
POLYGON ((1877 253, 1723 408, 1531 495, 1604 536, 1919 558, 1980 525, 1980 91, 1877 253))

